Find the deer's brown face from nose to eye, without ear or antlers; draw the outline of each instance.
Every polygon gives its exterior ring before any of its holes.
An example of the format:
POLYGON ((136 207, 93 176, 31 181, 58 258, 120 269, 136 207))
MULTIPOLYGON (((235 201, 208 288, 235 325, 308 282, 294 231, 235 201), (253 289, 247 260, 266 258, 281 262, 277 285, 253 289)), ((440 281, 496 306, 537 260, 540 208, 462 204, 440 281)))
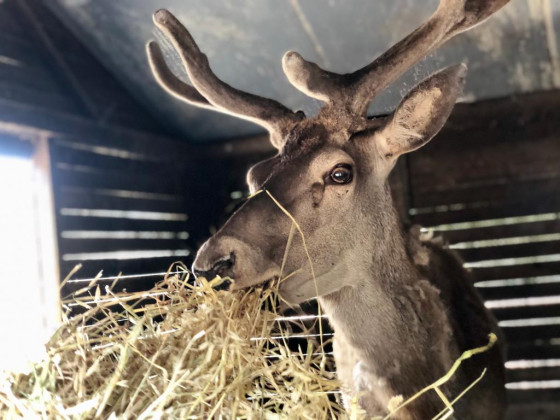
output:
POLYGON ((372 188, 382 194, 383 185, 374 181, 371 163, 361 156, 363 145, 349 139, 337 144, 323 127, 305 128, 293 139, 298 147, 286 144, 277 156, 251 168, 250 191, 261 192, 202 246, 194 263, 199 274, 228 275, 235 287, 289 276, 281 287, 292 303, 316 296, 315 286, 320 294, 341 286, 335 273, 345 271, 345 255, 356 246, 354 222, 362 216, 357 198, 372 188), (284 211, 298 222, 307 250, 297 231, 288 245, 294 227, 284 211))

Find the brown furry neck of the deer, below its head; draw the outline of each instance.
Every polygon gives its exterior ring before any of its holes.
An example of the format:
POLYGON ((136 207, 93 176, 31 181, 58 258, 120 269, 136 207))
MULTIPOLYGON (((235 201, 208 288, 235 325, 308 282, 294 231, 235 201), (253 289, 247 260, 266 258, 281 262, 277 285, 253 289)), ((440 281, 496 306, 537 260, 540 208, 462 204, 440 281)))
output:
POLYGON ((381 227, 371 225, 369 255, 345 264, 346 286, 319 298, 334 329, 340 380, 357 392, 375 390, 383 409, 397 393, 441 377, 458 356, 439 290, 409 257, 396 212, 385 214, 381 227))

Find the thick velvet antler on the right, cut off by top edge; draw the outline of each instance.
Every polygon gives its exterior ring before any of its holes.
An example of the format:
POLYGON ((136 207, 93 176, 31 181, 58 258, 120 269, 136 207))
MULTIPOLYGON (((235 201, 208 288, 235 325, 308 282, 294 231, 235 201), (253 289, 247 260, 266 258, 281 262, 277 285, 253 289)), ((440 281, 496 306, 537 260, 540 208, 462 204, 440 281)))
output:
POLYGON ((336 74, 304 60, 284 55, 282 66, 290 82, 306 95, 365 115, 369 103, 416 62, 460 32, 498 11, 509 0, 440 0, 431 18, 372 63, 349 74, 336 74))

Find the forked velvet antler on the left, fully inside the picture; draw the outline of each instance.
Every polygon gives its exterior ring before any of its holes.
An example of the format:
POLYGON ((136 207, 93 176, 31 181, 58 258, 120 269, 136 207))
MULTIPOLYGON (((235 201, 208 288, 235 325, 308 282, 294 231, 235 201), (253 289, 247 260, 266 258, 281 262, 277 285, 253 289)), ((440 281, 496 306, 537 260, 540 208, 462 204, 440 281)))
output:
POLYGON ((208 58, 196 45, 191 34, 167 10, 154 13, 154 23, 173 43, 193 86, 180 80, 169 69, 159 45, 147 46, 150 66, 156 80, 169 93, 190 104, 232 114, 265 127, 274 146, 280 148, 294 124, 304 118, 272 99, 240 91, 224 83, 212 72, 208 58))

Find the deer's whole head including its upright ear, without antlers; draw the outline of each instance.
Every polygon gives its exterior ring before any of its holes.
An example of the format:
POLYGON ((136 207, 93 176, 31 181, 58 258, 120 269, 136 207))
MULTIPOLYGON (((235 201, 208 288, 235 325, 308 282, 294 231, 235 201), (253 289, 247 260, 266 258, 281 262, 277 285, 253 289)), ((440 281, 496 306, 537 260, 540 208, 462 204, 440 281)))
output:
POLYGON ((392 220, 387 177, 396 158, 441 128, 461 91, 465 67, 421 83, 386 118, 349 118, 353 130, 331 131, 330 114, 294 126, 275 157, 247 174, 250 198, 199 250, 194 270, 235 279, 235 288, 284 278, 282 297, 299 303, 359 281, 392 220), (357 127, 357 128, 356 128, 357 127), (354 132, 353 132, 354 131, 354 132), (300 232, 288 245, 293 217, 300 232), (313 270, 311 269, 313 265, 313 270))

